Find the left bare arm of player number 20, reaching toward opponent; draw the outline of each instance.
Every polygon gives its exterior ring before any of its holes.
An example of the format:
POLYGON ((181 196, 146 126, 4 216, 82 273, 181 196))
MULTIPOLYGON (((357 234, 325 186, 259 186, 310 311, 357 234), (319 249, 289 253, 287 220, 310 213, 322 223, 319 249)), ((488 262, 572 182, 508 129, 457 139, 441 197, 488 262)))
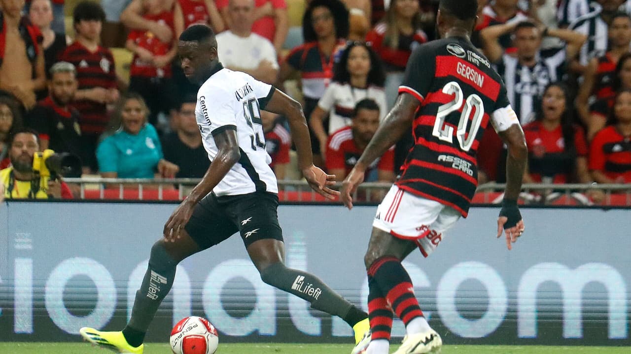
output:
POLYGON ((372 137, 372 140, 370 140, 370 143, 363 151, 362 157, 359 158, 359 161, 357 161, 357 164, 355 164, 355 167, 346 176, 346 180, 342 184, 341 198, 347 208, 353 208, 353 197, 351 195, 355 193, 357 186, 363 182, 363 174, 366 169, 408 131, 414 113, 420 104, 420 101, 409 93, 399 94, 394 107, 386 115, 384 122, 379 125, 375 136, 372 137))

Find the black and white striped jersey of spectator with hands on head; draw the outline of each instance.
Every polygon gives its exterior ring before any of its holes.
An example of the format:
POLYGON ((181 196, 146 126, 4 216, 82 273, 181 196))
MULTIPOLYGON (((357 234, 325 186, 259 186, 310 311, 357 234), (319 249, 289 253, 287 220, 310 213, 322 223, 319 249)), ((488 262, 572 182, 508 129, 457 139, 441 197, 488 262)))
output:
POLYGON ((504 54, 495 64, 498 74, 504 79, 510 105, 522 125, 533 119, 532 113, 539 105, 546 86, 563 78, 565 64, 565 48, 541 52, 532 67, 522 66, 519 59, 509 54, 504 54))

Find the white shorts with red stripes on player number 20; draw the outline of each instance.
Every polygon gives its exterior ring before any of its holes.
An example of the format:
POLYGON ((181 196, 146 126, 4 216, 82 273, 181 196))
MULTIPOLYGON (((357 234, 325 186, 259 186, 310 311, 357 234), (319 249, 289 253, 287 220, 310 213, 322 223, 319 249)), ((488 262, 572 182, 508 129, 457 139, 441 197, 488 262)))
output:
POLYGON ((372 227, 394 237, 414 241, 429 256, 462 215, 452 207, 404 191, 392 185, 377 208, 372 227))

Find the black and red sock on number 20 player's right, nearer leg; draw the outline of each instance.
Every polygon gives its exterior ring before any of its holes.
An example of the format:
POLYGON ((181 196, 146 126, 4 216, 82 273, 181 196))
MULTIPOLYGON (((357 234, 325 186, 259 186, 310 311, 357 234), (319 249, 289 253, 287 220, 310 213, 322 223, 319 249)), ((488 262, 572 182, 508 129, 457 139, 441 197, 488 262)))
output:
POLYGON ((412 280, 401 261, 391 256, 379 258, 370 266, 368 275, 379 285, 381 294, 386 294, 387 304, 406 326, 416 317, 423 316, 414 296, 412 280))

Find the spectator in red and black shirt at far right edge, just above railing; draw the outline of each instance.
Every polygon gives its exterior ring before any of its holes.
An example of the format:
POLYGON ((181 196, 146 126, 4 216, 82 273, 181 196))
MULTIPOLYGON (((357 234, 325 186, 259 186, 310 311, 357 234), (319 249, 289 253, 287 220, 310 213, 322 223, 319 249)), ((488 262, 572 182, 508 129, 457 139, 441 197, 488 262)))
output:
POLYGON ((589 169, 598 183, 631 183, 631 90, 620 91, 609 125, 591 144, 589 169))

